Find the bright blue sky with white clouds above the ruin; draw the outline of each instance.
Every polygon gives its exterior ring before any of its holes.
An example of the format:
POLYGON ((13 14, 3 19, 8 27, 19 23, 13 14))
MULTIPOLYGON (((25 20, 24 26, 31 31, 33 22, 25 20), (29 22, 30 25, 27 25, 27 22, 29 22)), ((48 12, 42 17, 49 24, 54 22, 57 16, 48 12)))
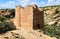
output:
POLYGON ((0 0, 0 8, 15 8, 17 5, 36 4, 38 7, 60 5, 60 0, 0 0))

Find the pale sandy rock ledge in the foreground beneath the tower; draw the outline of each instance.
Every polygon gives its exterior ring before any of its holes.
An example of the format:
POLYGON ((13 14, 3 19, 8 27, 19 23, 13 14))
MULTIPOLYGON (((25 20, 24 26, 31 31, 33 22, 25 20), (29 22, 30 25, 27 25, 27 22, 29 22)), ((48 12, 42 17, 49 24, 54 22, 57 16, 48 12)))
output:
POLYGON ((3 39, 3 38, 4 39, 5 38, 8 38, 8 39, 20 39, 20 38, 21 39, 22 38, 24 38, 24 39, 48 39, 48 38, 56 39, 55 37, 47 36, 43 33, 37 32, 35 30, 25 30, 25 29, 10 31, 1 36, 0 36, 1 39, 3 39))

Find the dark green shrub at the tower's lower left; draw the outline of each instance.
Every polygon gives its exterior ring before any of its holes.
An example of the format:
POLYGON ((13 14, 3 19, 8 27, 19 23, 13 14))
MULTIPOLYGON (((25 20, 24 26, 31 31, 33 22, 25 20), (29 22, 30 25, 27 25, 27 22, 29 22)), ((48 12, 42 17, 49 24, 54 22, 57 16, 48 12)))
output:
POLYGON ((13 23, 2 22, 0 23, 0 33, 5 33, 6 31, 14 30, 15 26, 13 23))

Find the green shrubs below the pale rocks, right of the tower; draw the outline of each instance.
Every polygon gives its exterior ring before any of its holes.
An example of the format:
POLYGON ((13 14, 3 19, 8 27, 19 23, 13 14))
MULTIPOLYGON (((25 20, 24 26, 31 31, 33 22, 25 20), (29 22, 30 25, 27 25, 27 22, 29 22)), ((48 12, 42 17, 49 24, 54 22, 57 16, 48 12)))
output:
POLYGON ((45 25, 44 29, 45 29, 45 32, 44 32, 45 34, 50 35, 52 37, 54 36, 60 39, 60 26, 45 25))

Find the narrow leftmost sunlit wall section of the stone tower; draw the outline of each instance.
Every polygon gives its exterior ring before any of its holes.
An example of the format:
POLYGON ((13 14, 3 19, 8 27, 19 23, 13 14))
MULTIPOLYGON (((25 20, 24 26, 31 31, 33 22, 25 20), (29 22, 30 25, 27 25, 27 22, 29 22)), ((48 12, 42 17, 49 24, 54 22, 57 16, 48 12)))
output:
POLYGON ((15 18, 13 21, 17 29, 19 29, 21 26, 21 9, 21 6, 16 6, 15 8, 15 18))

